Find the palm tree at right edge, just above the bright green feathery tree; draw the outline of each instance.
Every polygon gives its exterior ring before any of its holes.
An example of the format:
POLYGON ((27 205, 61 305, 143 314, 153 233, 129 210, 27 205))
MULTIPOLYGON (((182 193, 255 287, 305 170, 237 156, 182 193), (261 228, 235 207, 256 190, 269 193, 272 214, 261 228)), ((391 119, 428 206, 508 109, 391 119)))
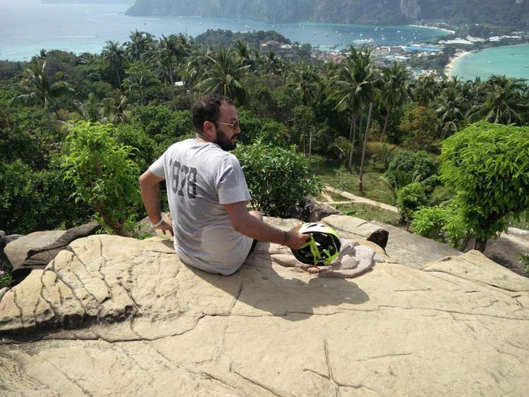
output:
POLYGON ((497 124, 523 123, 520 111, 529 107, 522 103, 521 92, 525 87, 523 80, 492 75, 486 86, 488 90, 485 103, 473 106, 468 111, 470 121, 485 118, 486 121, 497 124))

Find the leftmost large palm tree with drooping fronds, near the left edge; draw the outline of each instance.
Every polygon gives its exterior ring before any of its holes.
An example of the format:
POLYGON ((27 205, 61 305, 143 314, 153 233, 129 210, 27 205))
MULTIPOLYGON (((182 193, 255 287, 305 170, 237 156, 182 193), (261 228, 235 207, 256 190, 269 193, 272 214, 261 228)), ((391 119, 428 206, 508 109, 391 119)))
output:
POLYGON ((24 94, 18 95, 11 99, 12 101, 23 101, 25 104, 28 101, 34 101, 44 107, 46 116, 50 117, 50 102, 51 99, 59 97, 59 95, 66 92, 73 92, 73 88, 64 81, 56 81, 52 83, 47 78, 46 61, 38 60, 32 63, 29 68, 23 72, 24 78, 20 81, 20 88, 24 94))

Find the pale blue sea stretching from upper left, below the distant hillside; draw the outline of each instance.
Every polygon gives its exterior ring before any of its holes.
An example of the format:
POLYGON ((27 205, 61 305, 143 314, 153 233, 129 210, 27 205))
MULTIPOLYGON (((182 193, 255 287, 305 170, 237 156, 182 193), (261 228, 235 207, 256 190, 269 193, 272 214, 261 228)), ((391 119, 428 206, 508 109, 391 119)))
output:
POLYGON ((276 30, 292 42, 310 43, 325 50, 347 47, 355 39, 374 39, 379 45, 422 42, 442 30, 412 26, 333 25, 291 23, 272 25, 251 20, 175 16, 167 18, 124 15, 130 4, 40 4, 39 0, 0 0, 0 59, 28 60, 40 49, 99 53, 104 42, 125 42, 138 29, 159 37, 184 32, 200 35, 207 29, 234 32, 276 30))

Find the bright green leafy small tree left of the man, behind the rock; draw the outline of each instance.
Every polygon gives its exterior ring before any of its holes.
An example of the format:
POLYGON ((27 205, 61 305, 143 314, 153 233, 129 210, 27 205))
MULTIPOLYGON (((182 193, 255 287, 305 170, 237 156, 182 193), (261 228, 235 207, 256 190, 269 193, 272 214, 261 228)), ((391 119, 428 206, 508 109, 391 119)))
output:
POLYGON ((64 178, 75 186, 75 202, 92 205, 105 224, 127 236, 125 222, 140 204, 139 169, 132 147, 117 145, 109 124, 80 121, 66 137, 64 178))

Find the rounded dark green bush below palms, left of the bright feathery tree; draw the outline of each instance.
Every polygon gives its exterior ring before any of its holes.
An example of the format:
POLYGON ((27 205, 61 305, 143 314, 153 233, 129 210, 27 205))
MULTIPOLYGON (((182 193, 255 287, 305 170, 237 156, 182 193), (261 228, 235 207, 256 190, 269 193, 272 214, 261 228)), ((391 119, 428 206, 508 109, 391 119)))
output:
POLYGON ((438 171, 439 161, 432 159, 427 152, 398 152, 389 162, 385 177, 391 185, 402 188, 413 180, 425 181, 438 171))

